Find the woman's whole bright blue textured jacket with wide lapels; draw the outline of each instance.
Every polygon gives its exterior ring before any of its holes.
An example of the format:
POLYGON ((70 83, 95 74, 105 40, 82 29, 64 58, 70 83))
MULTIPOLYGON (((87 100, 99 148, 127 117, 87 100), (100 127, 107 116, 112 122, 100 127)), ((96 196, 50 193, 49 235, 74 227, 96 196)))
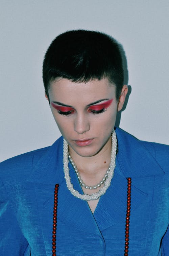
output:
MULTIPOLYGON (((59 184, 57 256, 122 256, 131 177, 129 256, 169 256, 169 147, 116 129, 111 186, 92 214, 63 174, 63 137, 0 164, 0 255, 51 256, 54 186, 59 184)), ((70 167, 74 188, 82 193, 70 167)))

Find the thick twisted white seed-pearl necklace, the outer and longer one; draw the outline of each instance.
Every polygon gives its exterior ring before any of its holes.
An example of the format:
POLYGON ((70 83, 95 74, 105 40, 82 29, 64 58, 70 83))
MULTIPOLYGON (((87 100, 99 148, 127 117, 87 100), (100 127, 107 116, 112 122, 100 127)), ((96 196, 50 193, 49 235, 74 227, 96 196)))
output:
POLYGON ((91 195, 89 194, 80 194, 77 190, 73 188, 73 184, 71 183, 71 178, 69 175, 69 151, 68 151, 68 143, 64 139, 63 143, 63 165, 64 165, 64 173, 65 173, 65 180, 67 188, 70 192, 77 198, 85 201, 96 200, 101 197, 101 195, 105 194, 108 187, 110 187, 111 180, 114 176, 114 169, 116 166, 116 150, 117 150, 117 138, 116 133, 113 130, 112 132, 112 150, 111 150, 111 163, 110 163, 110 170, 107 173, 107 178, 104 182, 104 186, 97 192, 91 195))

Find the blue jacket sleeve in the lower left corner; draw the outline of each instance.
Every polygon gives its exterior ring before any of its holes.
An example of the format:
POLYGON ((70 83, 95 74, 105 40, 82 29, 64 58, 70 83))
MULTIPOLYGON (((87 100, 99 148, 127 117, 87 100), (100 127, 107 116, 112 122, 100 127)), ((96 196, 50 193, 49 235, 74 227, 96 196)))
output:
POLYGON ((0 180, 0 255, 30 255, 29 245, 16 220, 9 194, 0 180))

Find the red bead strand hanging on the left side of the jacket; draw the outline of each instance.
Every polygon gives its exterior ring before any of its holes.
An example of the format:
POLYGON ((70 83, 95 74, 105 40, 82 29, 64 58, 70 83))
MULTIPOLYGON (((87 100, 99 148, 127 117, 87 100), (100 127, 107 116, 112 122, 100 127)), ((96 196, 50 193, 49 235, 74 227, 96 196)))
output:
POLYGON ((57 198, 59 184, 54 188, 54 207, 53 207, 53 232, 52 232, 52 256, 56 256, 56 227, 57 227, 57 198))

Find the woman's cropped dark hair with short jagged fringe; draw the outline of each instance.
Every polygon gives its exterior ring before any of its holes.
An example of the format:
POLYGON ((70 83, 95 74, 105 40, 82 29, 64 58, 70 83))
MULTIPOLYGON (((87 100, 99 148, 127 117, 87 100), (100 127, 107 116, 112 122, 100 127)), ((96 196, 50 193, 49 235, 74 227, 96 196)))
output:
POLYGON ((43 82, 48 98, 50 83, 57 78, 72 82, 107 78, 116 86, 118 100, 124 82, 118 42, 97 31, 72 30, 58 35, 49 46, 43 62, 43 82))

